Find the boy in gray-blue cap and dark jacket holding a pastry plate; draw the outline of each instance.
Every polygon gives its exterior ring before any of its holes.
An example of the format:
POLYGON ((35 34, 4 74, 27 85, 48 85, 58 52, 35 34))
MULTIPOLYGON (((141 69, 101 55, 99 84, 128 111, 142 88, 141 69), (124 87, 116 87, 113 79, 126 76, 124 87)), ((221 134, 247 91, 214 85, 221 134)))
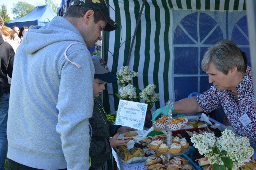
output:
POLYGON ((121 133, 137 130, 131 127, 122 127, 108 122, 101 98, 98 97, 105 90, 106 83, 112 83, 117 80, 116 76, 110 73, 107 63, 99 56, 92 56, 95 68, 93 96, 94 106, 93 114, 89 119, 92 127, 92 136, 89 149, 90 168, 97 170, 107 170, 107 161, 111 160, 111 147, 116 147, 128 143, 132 138, 118 140, 121 133), (110 138, 112 137, 112 138, 110 138))

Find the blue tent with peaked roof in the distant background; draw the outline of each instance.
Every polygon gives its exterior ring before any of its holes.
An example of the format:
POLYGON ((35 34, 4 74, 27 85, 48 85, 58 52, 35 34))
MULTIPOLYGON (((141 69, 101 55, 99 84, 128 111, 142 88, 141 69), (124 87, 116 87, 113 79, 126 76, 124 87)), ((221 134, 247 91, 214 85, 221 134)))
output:
POLYGON ((48 5, 35 7, 30 13, 19 19, 6 22, 6 26, 12 27, 17 25, 18 27, 30 26, 30 25, 45 25, 50 22, 57 14, 48 5))

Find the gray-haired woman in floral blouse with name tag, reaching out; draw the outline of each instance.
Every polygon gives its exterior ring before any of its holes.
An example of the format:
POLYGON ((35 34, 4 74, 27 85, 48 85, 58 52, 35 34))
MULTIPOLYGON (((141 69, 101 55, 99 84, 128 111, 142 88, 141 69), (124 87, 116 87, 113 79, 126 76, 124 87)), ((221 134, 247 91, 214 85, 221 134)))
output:
MULTIPOLYGON (((173 112, 191 114, 209 113, 222 106, 233 131, 246 136, 256 146, 256 113, 252 71, 245 64, 237 45, 220 40, 208 48, 202 60, 202 69, 213 86, 206 92, 174 103, 173 112)), ((161 110, 161 108, 159 109, 161 110)), ((161 111, 155 111, 153 117, 161 111)))

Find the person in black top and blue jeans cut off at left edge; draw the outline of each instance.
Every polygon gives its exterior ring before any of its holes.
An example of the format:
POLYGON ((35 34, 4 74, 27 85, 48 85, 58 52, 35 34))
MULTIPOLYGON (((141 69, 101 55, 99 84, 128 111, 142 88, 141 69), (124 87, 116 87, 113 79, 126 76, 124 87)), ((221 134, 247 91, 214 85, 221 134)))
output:
MULTIPOLYGON (((0 31, 4 25, 4 20, 0 15, 0 31)), ((10 96, 10 84, 7 75, 12 76, 14 51, 11 45, 4 42, 0 35, 0 170, 4 170, 4 163, 7 152, 7 117, 10 96)))

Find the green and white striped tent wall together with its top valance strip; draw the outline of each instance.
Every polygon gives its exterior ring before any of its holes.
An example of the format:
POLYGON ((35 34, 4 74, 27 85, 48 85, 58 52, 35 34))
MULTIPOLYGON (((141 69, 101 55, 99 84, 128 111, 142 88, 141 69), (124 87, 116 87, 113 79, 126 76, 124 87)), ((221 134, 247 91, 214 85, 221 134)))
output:
MULTIPOLYGON (((103 57, 113 74, 116 74, 128 59, 132 36, 136 27, 143 0, 109 0, 110 17, 120 26, 112 32, 105 32, 103 57)), ((132 84, 143 89, 155 84, 160 99, 155 108, 165 106, 174 98, 173 87, 173 12, 172 10, 245 10, 244 0, 147 0, 136 32, 129 61, 131 71, 139 72, 132 84)), ((105 90, 105 109, 116 110, 120 86, 108 83, 105 90)), ((144 100, 140 100, 144 103, 144 100)))

